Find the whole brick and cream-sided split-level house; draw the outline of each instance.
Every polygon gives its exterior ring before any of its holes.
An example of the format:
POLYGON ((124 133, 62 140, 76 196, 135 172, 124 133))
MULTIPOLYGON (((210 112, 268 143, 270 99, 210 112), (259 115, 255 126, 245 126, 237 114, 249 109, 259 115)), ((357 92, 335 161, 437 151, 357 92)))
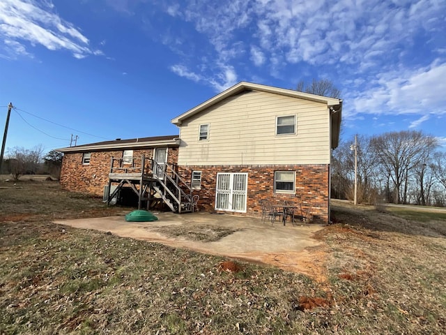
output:
MULTIPOLYGON (((330 154, 339 142, 341 110, 336 98, 240 82, 172 119, 179 135, 59 149, 64 153, 61 185, 102 195, 104 186, 110 191, 125 177, 112 173, 114 159, 125 169, 125 163, 130 168, 144 157, 146 181, 129 182, 140 200, 164 193, 162 198, 173 202, 169 198, 181 193, 189 202, 199 195, 200 210, 247 215, 259 214, 263 199, 294 201, 328 222, 330 154), (170 167, 170 184, 183 185, 176 191, 167 181, 156 186, 154 161, 158 170, 170 167)), ((186 207, 178 199, 169 207, 181 211, 186 207)))

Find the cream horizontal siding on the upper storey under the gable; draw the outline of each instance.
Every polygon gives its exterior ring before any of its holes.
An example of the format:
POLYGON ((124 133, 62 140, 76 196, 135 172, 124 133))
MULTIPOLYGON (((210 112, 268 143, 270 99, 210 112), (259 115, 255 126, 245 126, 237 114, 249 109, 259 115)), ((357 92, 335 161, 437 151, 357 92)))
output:
POLYGON ((213 105, 181 124, 179 165, 330 163, 327 105, 249 91, 213 105), (275 135, 276 117, 296 115, 296 135, 275 135), (208 141, 199 125, 209 124, 208 141))

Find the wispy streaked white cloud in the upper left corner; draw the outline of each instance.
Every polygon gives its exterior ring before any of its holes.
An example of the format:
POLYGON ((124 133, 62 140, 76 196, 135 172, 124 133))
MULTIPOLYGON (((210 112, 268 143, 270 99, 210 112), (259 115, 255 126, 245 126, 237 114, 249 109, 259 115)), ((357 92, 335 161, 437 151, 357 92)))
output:
POLYGON ((27 43, 43 45, 48 50, 68 50, 77 59, 102 54, 89 45, 89 39, 79 29, 54 12, 51 1, 1 0, 0 40, 9 58, 30 56, 27 43))

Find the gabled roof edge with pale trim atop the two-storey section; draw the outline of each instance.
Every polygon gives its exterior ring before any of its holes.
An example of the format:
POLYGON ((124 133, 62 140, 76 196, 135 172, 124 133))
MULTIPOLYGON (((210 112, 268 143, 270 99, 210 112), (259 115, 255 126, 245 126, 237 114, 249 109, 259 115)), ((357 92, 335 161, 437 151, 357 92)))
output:
POLYGON ((193 107, 187 112, 179 115, 178 117, 171 119, 171 123, 176 126, 181 126, 185 119, 188 119, 199 112, 206 110, 206 108, 220 103, 230 96, 239 94, 242 91, 262 91, 272 94, 280 94, 282 96, 290 96, 291 98, 299 98, 308 101, 314 101, 316 103, 326 104, 330 112, 332 113, 332 149, 336 148, 339 143, 339 133, 341 130, 341 113, 342 113, 342 100, 337 98, 329 98, 327 96, 318 96, 316 94, 309 94, 300 91, 295 91, 293 89, 280 89, 278 87, 266 86, 261 84, 254 84, 252 82, 239 82, 238 84, 222 91, 222 93, 217 94, 213 98, 193 107))

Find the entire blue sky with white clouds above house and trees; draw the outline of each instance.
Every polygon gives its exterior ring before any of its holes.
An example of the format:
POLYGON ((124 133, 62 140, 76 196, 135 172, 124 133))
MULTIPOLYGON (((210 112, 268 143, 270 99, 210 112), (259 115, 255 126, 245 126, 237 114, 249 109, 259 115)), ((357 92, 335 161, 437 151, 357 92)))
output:
POLYGON ((237 82, 313 78, 341 90, 344 137, 446 145, 446 1, 1 0, 0 75, 7 148, 174 135, 237 82))

